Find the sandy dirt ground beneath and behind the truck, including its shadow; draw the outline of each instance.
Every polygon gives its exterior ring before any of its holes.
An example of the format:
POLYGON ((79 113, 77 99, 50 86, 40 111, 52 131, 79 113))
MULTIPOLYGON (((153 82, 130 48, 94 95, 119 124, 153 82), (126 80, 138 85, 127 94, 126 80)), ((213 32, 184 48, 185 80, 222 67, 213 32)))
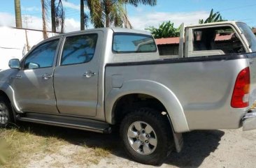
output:
MULTIPOLYGON (((31 136, 55 135, 65 143, 50 153, 22 156, 29 157, 22 167, 152 167, 129 160, 117 133, 103 135, 31 123, 24 127, 31 131, 31 136)), ((171 153, 159 167, 256 167, 256 130, 193 131, 185 133, 183 139, 183 151, 171 153)), ((22 158, 15 160, 13 167, 19 167, 19 162, 22 158)))

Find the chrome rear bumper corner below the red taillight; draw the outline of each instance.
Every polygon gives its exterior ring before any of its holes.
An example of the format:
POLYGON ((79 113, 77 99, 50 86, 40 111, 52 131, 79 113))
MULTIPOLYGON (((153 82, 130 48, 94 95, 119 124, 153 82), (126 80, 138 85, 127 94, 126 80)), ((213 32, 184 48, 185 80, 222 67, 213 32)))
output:
POLYGON ((243 116, 243 131, 256 130, 256 112, 247 113, 243 116))

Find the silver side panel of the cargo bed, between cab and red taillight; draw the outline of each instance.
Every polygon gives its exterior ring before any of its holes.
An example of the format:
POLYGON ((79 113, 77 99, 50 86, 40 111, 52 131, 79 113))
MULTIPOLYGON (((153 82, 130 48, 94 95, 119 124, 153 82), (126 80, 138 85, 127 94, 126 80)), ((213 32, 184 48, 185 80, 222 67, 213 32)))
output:
MULTIPOLYGON (((210 59, 210 61, 208 58, 198 61, 195 58, 192 62, 176 60, 158 61, 155 64, 110 65, 106 67, 106 100, 111 91, 116 89, 111 82, 113 75, 122 77, 123 85, 118 92, 122 92, 122 88, 131 80, 157 82, 176 96, 185 114, 189 130, 239 128, 246 108, 234 109, 230 106, 230 102, 236 76, 247 66, 246 58, 210 59)), ((143 84, 141 91, 146 87, 147 84, 143 84)), ((168 107, 166 109, 171 109, 171 100, 168 101, 163 104, 168 107)), ((172 122, 173 120, 179 122, 178 118, 174 117, 172 122)), ((185 130, 175 130, 185 132, 185 130)))

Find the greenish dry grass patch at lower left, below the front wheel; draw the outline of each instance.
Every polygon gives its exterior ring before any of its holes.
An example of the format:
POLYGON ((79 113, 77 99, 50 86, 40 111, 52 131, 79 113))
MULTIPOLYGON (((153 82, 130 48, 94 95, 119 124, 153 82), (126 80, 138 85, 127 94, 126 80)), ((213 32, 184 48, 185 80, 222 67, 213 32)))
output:
POLYGON ((6 168, 25 167, 35 153, 50 154, 57 151, 59 146, 66 144, 55 136, 34 135, 30 129, 0 129, 0 137, 1 144, 7 148, 6 152, 1 153, 3 158, 1 165, 6 168))

